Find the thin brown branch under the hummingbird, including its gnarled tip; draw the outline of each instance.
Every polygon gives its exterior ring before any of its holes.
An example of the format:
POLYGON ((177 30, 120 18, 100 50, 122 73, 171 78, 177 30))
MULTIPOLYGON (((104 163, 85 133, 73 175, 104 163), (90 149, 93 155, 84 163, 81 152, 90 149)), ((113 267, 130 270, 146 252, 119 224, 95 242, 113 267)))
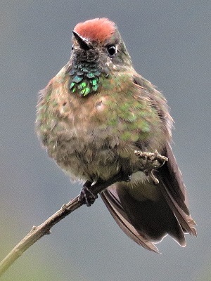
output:
MULTIPOLYGON (((158 179, 153 175, 153 169, 159 168, 162 166, 167 158, 160 155, 157 151, 154 153, 151 152, 134 152, 137 157, 140 159, 140 170, 144 171, 146 175, 150 176, 155 183, 158 183, 158 179)), ((117 175, 114 178, 106 182, 96 182, 94 185, 91 185, 91 192, 94 195, 97 195, 103 189, 108 188, 108 186, 116 183, 117 181, 122 181, 122 176, 117 175)), ((33 226, 30 233, 28 233, 23 240, 21 240, 12 251, 1 261, 0 263, 0 276, 13 264, 13 262, 19 258, 32 244, 37 242, 41 237, 46 234, 51 233, 51 228, 61 221, 65 216, 72 213, 79 207, 82 206, 82 202, 79 201, 79 195, 74 199, 70 200, 68 204, 64 204, 60 210, 55 214, 50 216, 44 223, 41 223, 40 226, 33 226)))

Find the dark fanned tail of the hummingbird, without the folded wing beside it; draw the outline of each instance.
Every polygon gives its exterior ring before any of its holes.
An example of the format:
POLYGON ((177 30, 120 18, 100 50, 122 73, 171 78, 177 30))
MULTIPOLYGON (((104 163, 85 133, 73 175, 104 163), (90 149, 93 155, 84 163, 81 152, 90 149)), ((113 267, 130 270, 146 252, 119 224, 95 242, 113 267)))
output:
POLYGON ((167 234, 182 247, 186 245, 184 232, 162 195, 157 202, 137 201, 129 195, 127 188, 112 185, 101 197, 124 233, 146 249, 158 252, 154 243, 167 234))

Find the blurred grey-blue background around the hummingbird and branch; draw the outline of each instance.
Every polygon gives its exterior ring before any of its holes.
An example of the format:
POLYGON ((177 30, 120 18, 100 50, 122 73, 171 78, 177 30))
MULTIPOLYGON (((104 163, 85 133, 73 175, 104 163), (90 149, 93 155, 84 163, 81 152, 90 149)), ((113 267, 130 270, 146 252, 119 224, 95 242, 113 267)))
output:
POLYGON ((37 92, 70 58, 77 22, 117 23, 134 67, 165 94, 175 121, 174 154, 198 237, 170 237, 162 255, 136 245, 101 199, 81 207, 28 249, 1 280, 211 280, 210 1, 2 0, 0 10, 0 259, 75 197, 34 132, 37 92))

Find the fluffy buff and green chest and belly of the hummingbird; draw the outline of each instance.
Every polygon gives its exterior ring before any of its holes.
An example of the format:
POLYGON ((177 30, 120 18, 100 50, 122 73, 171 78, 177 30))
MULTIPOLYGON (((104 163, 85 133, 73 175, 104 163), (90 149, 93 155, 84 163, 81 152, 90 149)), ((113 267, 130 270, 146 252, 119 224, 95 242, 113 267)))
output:
POLYGON ((161 146, 158 115, 148 98, 128 85, 107 85, 107 91, 87 97, 67 89, 66 83, 54 84, 44 93, 38 128, 49 156, 73 178, 108 179, 120 169, 132 173, 139 165, 134 150, 161 146))

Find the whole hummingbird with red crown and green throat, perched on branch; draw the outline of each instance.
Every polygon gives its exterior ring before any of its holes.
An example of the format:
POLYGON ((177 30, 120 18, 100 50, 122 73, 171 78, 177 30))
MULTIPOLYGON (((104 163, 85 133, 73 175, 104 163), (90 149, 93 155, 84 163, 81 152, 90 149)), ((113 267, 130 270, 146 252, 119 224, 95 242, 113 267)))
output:
POLYGON ((171 148, 172 124, 165 97, 134 70, 115 23, 79 22, 70 60, 39 92, 37 133, 49 157, 84 182, 80 200, 87 206, 96 199, 92 183, 122 175, 101 198, 124 233, 155 252, 166 235, 181 247, 185 233, 196 236, 171 148), (136 150, 167 157, 153 171, 157 183, 141 171, 136 150))

